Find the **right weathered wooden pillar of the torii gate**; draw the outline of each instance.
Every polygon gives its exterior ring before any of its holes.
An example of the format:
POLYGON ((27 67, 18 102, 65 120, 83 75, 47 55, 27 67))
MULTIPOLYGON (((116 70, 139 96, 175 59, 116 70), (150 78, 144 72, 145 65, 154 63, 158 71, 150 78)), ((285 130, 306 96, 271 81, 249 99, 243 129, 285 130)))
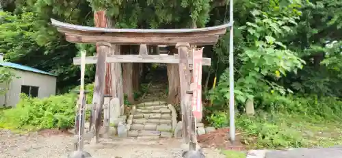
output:
POLYGON ((189 76, 189 60, 188 49, 190 45, 188 43, 176 44, 176 48, 179 52, 179 81, 181 82, 181 113, 183 120, 183 137, 186 143, 190 143, 189 136, 189 110, 190 110, 190 95, 186 92, 190 87, 190 76, 189 76))

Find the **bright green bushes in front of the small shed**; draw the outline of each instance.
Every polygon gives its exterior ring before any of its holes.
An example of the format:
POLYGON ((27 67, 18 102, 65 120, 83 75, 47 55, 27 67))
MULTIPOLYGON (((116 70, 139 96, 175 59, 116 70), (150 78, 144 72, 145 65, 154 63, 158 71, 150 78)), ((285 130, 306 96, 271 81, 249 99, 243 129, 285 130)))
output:
MULTIPOLYGON (((86 85, 87 102, 92 101, 92 84, 86 85)), ((74 90, 77 90, 75 88, 74 90)), ((60 128, 68 129, 75 124, 77 94, 70 92, 49 98, 29 98, 21 95, 21 100, 12 109, 3 109, 0 128, 37 130, 60 128)))

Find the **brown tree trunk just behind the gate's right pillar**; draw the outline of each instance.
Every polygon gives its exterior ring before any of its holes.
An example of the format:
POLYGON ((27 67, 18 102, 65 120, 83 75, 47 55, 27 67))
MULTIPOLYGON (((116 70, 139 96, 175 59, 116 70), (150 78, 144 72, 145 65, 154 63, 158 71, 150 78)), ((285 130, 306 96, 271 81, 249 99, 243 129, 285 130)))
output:
MULTIPOLYGON (((169 55, 174 55, 178 50, 174 47, 170 49, 169 55)), ((178 64, 167 64, 168 69, 168 103, 179 104, 181 83, 179 82, 179 66, 178 64)))

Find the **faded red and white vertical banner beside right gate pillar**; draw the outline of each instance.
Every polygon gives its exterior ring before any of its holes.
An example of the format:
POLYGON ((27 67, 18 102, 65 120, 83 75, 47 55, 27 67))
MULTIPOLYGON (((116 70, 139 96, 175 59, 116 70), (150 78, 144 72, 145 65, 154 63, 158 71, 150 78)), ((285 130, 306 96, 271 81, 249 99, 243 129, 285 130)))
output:
POLYGON ((192 55, 192 72, 194 73, 194 92, 192 94, 192 112, 195 118, 202 118, 202 55, 203 48, 194 49, 192 55))

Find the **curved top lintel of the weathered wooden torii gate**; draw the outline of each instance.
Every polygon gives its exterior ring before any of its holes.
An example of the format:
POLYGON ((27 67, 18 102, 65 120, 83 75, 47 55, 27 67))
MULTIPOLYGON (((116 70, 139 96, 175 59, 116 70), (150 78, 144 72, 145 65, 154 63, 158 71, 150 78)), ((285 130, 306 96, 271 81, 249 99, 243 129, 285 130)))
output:
POLYGON ((66 40, 76 43, 106 41, 114 44, 167 44, 187 42, 196 45, 213 45, 226 33, 231 23, 199 29, 108 29, 62 23, 51 19, 53 26, 64 33, 66 40))

